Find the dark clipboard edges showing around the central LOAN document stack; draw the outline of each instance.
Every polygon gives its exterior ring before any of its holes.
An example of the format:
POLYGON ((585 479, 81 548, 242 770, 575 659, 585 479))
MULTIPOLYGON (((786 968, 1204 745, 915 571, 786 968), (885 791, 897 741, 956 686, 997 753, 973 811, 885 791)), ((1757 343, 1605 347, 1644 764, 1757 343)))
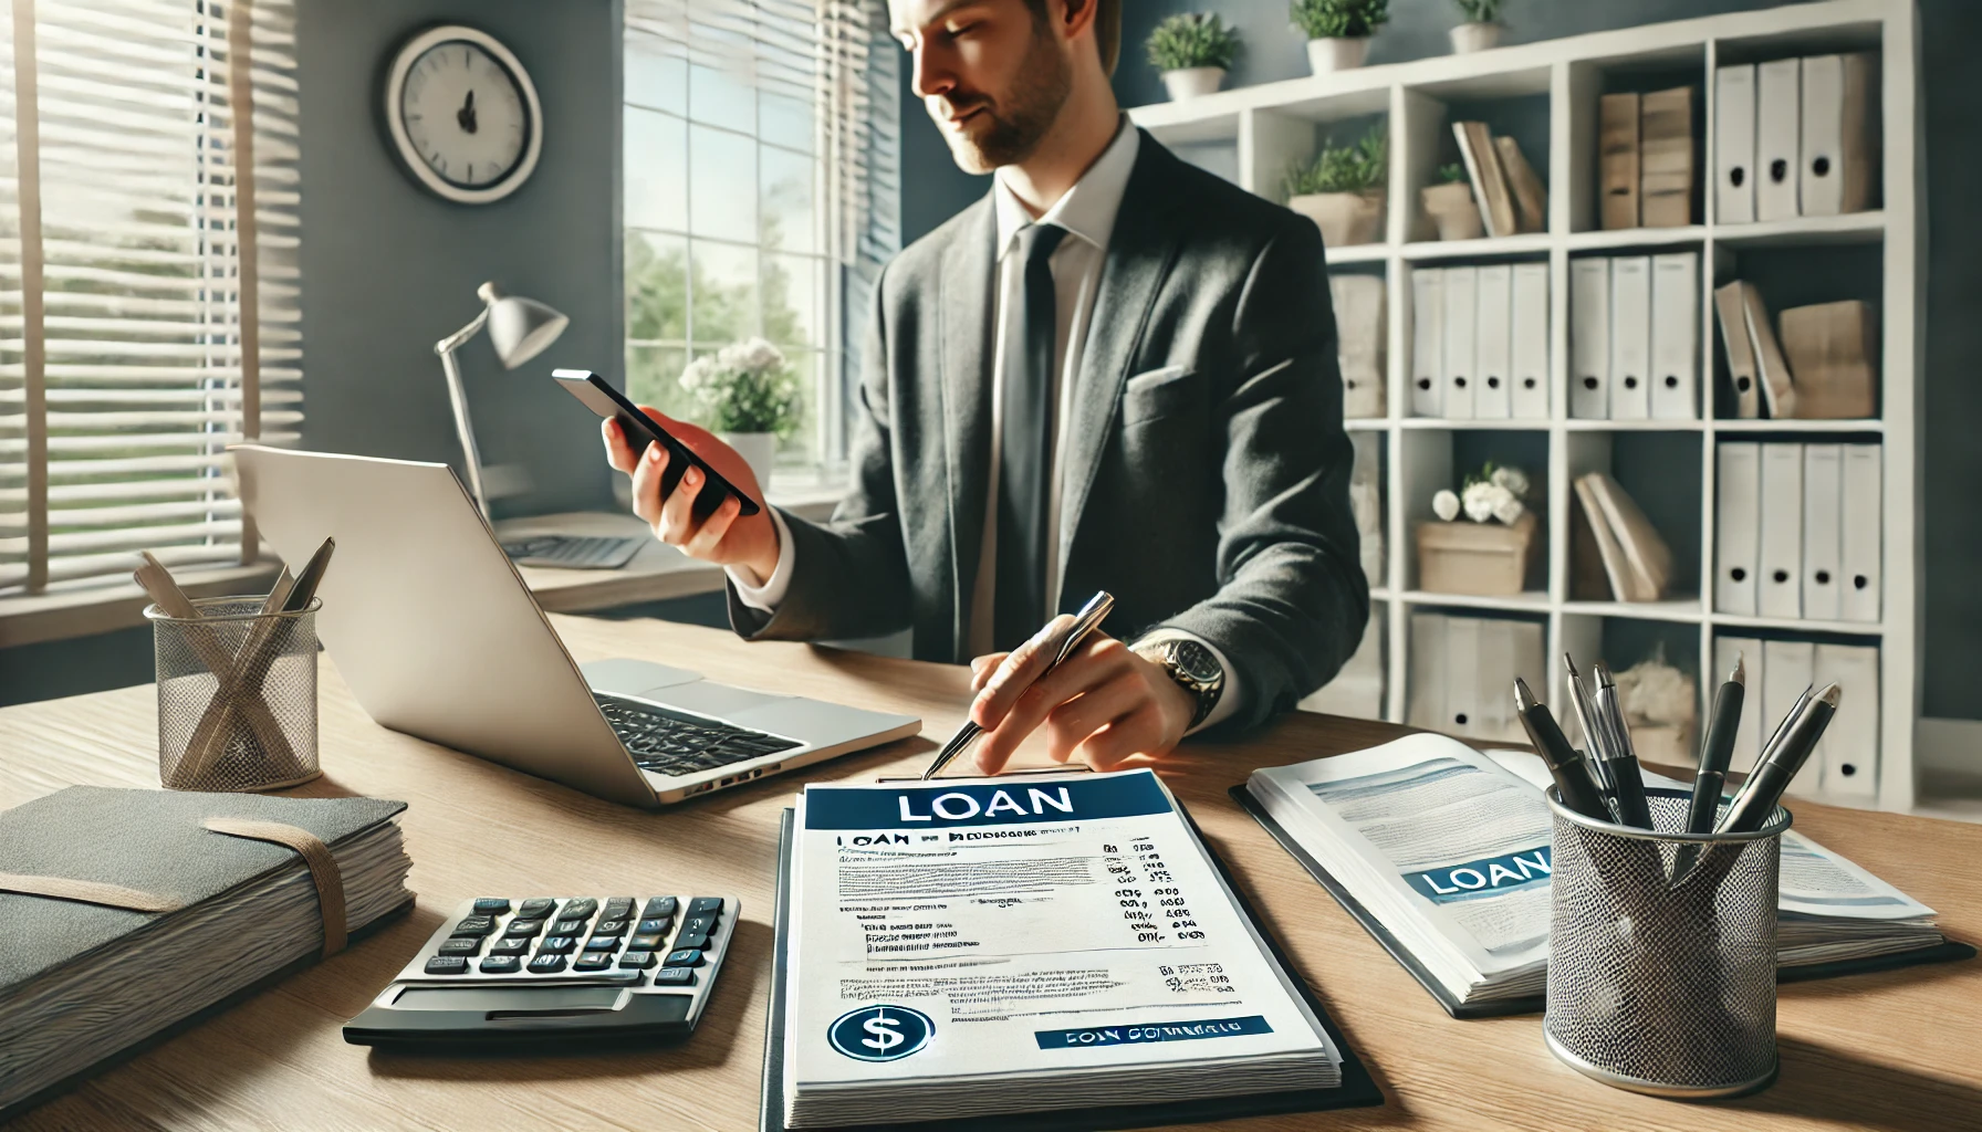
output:
MULTIPOLYGON (((1286 973, 1286 981, 1300 991, 1302 1001, 1320 1019, 1322 1029, 1328 1031, 1328 1041, 1336 1045, 1342 1055, 1342 1084, 1336 1088, 1298 1088, 1288 1092, 1259 1092, 1251 1096, 1207 1096, 1203 1100, 1163 1100, 1157 1104, 1112 1104, 1102 1108, 1062 1108, 1056 1112, 1025 1112, 1025 1114, 985 1114, 971 1116, 963 1120, 910 1120, 902 1124, 844 1124, 836 1126, 832 1132, 1009 1132, 1015 1120, 1023 1120, 1027 1132, 1104 1132, 1114 1128, 1150 1128, 1157 1124, 1203 1124, 1209 1120, 1231 1120, 1237 1116, 1270 1116, 1282 1112, 1324 1112, 1330 1108, 1370 1108, 1383 1104, 1383 1092, 1376 1086, 1370 1076, 1368 1067, 1356 1057, 1356 1051, 1342 1041, 1342 1031, 1336 1027, 1322 1003, 1316 1001, 1314 991, 1294 973, 1286 960, 1286 952, 1280 950, 1278 940, 1272 938, 1266 922, 1247 900, 1245 892, 1239 888, 1219 858, 1217 850, 1203 839, 1197 823, 1177 803, 1177 813, 1183 815, 1183 823, 1189 827, 1191 837, 1197 837, 1199 845, 1205 847, 1205 856, 1211 858, 1213 868, 1225 880, 1225 886, 1237 898, 1239 912, 1245 914, 1253 926, 1259 930, 1261 940, 1266 942, 1268 958, 1286 973)), ((797 845, 795 825, 797 811, 787 809, 777 833, 777 912, 775 912, 775 936, 771 944, 771 1003, 763 1027, 763 1094, 761 1108, 757 1116, 759 1132, 789 1132, 785 1128, 785 981, 789 977, 789 918, 791 918, 791 854, 797 845)))

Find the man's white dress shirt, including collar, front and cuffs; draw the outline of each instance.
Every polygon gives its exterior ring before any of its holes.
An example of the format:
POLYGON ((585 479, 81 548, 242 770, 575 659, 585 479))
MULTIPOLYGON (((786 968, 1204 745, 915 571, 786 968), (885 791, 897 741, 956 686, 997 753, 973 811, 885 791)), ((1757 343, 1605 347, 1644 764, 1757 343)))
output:
MULTIPOLYGON (((1050 484, 1046 494, 1046 609, 1058 609, 1060 605, 1060 539, 1072 535, 1072 531, 1062 529, 1068 515, 1060 511, 1060 464, 1066 446, 1066 434, 1058 430, 1060 422, 1072 406, 1074 383, 1080 379, 1080 359, 1086 351, 1088 341, 1088 321, 1094 317, 1094 297, 1100 291, 1102 264, 1108 260, 1108 238, 1114 232, 1116 212, 1122 208, 1122 192, 1128 188, 1128 176, 1136 169, 1136 151, 1142 141, 1136 127, 1124 117, 1122 127, 1116 131, 1108 149, 1102 151, 1094 165, 1068 188, 1041 218, 1039 224, 1056 224, 1066 230, 1066 238, 1054 248, 1048 264, 1052 268, 1052 289, 1054 289, 1054 337, 1052 337, 1052 359, 1054 359, 1054 414, 1052 424, 1056 436, 1052 438, 1052 468, 1048 470, 1046 484, 1050 484)), ((999 482, 999 436, 1003 436, 1003 387, 1005 387, 1005 359, 1009 353, 1023 343, 1011 343, 1011 335, 1017 333, 1013 319, 1007 319, 1007 311, 1017 309, 1025 303, 1025 264, 1015 256, 1019 246, 1019 230, 1033 224, 1033 214, 1019 200, 1019 196, 1005 184, 1003 170, 991 178, 991 204, 997 212, 997 264, 999 264, 999 285, 997 299, 993 307, 993 353, 991 353, 991 474, 989 474, 989 500, 985 506, 985 531, 983 531, 983 551, 977 559, 977 585, 969 595, 969 619, 967 624, 967 644, 971 656, 983 656, 991 652, 991 632, 993 632, 993 599, 997 595, 997 482, 999 482)), ((775 613, 777 605, 785 599, 791 589, 791 571, 795 569, 795 553, 791 543, 791 529, 785 525, 785 517, 771 508, 771 523, 777 527, 777 569, 771 571, 769 579, 759 579, 755 571, 747 567, 727 567, 729 581, 737 587, 737 597, 743 605, 757 609, 761 613, 775 613)), ((1086 599, 1086 595, 1082 595, 1086 599)), ((1195 638, 1195 636, 1193 636, 1195 638)), ((1197 638, 1201 640, 1201 638, 1197 638)), ((1239 706, 1237 674, 1233 666, 1225 662, 1225 654, 1217 650, 1215 644, 1203 640, 1211 648, 1213 656, 1219 660, 1219 668, 1225 670, 1225 692, 1219 696, 1219 704, 1211 710, 1199 728, 1209 728, 1233 714, 1239 706)))

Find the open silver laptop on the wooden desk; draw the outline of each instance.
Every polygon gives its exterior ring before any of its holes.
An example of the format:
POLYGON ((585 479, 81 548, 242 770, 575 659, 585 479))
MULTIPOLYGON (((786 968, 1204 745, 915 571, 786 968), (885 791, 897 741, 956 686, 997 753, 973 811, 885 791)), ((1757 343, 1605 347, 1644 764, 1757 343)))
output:
POLYGON ((337 539, 317 636, 394 732, 650 809, 922 732, 672 664, 575 664, 446 464, 232 452, 275 553, 299 563, 337 539))

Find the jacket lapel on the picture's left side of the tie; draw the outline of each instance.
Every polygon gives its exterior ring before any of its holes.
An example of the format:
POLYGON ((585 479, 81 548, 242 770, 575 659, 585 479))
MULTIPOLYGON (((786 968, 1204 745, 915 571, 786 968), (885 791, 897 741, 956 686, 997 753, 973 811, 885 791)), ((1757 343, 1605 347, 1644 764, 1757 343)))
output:
POLYGON ((955 583, 951 652, 969 638, 965 621, 983 557, 985 504, 991 490, 991 287, 995 285, 997 216, 991 196, 973 204, 943 258, 941 333, 943 446, 949 472, 949 551, 955 583))

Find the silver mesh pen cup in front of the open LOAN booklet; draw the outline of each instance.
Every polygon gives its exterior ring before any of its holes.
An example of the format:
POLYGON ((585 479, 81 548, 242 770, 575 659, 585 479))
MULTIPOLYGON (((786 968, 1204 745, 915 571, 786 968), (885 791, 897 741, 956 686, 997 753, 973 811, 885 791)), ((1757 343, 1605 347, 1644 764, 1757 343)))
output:
POLYGON ((1776 878, 1790 811, 1754 833, 1683 833, 1689 799, 1647 789, 1653 829, 1588 819, 1548 791, 1548 1049, 1653 1096, 1776 1080, 1776 878))

